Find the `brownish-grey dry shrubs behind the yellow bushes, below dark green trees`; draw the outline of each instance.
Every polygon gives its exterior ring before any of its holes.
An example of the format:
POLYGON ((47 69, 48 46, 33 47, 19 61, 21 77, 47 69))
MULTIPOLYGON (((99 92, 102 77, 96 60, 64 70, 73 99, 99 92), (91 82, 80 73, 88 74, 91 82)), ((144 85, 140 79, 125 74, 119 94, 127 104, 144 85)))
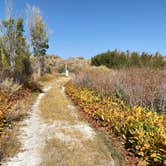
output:
POLYGON ((145 68, 80 70, 73 83, 96 90, 102 96, 116 96, 128 105, 166 112, 166 71, 145 68))

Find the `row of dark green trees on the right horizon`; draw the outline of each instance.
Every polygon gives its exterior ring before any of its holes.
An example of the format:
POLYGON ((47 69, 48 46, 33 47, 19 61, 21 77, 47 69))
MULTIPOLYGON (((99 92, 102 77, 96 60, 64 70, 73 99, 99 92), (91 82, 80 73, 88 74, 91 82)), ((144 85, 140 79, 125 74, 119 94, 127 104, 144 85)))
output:
POLYGON ((118 52, 107 51, 91 58, 91 64, 94 66, 105 65, 108 68, 124 67, 148 67, 163 69, 166 67, 164 57, 156 53, 154 55, 142 52, 118 52))

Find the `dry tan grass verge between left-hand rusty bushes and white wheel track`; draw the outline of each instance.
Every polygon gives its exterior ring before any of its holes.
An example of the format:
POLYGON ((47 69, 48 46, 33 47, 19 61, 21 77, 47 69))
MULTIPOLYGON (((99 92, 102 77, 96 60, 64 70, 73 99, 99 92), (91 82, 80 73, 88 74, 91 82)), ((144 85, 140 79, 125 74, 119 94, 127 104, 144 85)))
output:
POLYGON ((18 140, 19 128, 21 120, 27 115, 33 104, 36 94, 32 94, 26 99, 19 101, 17 105, 11 109, 6 118, 6 128, 0 136, 0 161, 13 157, 19 152, 21 144, 18 140))

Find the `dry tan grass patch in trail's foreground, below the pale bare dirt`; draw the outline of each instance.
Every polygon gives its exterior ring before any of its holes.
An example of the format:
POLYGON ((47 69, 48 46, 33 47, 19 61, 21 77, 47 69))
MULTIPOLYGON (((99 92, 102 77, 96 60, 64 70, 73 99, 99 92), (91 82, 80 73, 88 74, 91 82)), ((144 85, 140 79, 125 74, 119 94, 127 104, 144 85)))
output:
POLYGON ((85 141, 84 145, 70 146, 56 138, 47 142, 41 166, 109 166, 111 156, 101 140, 85 141))

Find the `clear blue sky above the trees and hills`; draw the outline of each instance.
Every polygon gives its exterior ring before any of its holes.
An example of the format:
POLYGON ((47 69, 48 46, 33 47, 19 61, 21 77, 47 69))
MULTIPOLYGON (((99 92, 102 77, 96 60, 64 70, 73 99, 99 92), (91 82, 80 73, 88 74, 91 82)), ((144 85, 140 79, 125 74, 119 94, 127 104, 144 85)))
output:
POLYGON ((15 15, 25 17, 27 3, 40 7, 53 31, 48 53, 89 58, 117 48, 166 55, 166 0, 13 0, 15 15))

